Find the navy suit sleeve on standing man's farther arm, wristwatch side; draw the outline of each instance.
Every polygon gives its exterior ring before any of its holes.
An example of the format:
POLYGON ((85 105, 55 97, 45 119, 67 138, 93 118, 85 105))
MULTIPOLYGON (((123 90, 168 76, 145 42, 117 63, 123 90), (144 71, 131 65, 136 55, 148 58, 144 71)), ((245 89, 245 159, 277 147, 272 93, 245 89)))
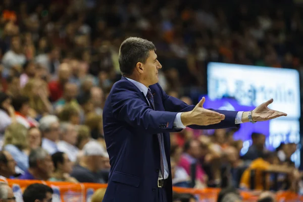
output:
MULTIPOLYGON (((162 90, 161 86, 158 84, 162 92, 162 101, 165 108, 165 111, 169 112, 189 112, 193 110, 194 105, 187 105, 182 102, 180 99, 169 96, 162 90)), ((208 125, 208 126, 199 126, 199 125, 189 125, 188 127, 192 129, 219 129, 219 128, 237 128, 239 124, 235 124, 235 119, 237 115, 237 111, 226 111, 226 110, 213 110, 220 114, 225 115, 225 119, 218 124, 208 125)))

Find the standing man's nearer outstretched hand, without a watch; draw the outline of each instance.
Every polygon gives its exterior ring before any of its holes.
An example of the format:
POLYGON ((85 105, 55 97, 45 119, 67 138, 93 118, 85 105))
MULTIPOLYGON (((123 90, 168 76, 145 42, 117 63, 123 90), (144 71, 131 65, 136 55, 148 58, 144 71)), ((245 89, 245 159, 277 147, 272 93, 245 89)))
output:
POLYGON ((190 112, 182 113, 181 121, 187 125, 200 125, 207 126, 212 124, 220 123, 225 119, 225 115, 218 112, 207 110, 203 107, 205 103, 205 97, 203 97, 200 102, 194 107, 190 112))

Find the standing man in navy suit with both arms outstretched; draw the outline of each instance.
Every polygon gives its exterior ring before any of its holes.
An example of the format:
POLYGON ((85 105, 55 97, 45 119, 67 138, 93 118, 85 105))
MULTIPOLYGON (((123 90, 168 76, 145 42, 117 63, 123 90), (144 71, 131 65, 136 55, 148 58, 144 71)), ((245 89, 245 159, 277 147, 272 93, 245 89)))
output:
POLYGON ((237 127, 285 113, 260 105, 254 111, 233 112, 203 108, 167 95, 158 84, 155 45, 130 37, 120 46, 122 78, 116 82, 103 112, 104 136, 111 171, 105 202, 171 202, 172 178, 169 132, 237 127))

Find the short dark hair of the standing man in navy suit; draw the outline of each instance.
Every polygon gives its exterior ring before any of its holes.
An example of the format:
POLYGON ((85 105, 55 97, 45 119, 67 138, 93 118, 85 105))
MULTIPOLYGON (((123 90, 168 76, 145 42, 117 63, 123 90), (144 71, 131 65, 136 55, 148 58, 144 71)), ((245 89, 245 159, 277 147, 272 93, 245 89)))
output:
POLYGON ((153 42, 138 37, 125 39, 119 50, 119 65, 122 75, 131 75, 138 62, 145 63, 149 51, 156 50, 153 42))

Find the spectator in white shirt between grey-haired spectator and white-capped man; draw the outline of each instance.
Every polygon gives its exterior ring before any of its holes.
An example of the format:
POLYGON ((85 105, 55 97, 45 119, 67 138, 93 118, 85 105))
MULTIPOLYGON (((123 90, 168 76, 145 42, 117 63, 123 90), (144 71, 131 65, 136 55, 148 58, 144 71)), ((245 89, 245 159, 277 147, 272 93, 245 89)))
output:
POLYGON ((58 150, 68 155, 68 158, 75 162, 79 149, 75 146, 77 143, 77 130, 75 126, 70 123, 61 124, 62 140, 58 142, 58 150))

